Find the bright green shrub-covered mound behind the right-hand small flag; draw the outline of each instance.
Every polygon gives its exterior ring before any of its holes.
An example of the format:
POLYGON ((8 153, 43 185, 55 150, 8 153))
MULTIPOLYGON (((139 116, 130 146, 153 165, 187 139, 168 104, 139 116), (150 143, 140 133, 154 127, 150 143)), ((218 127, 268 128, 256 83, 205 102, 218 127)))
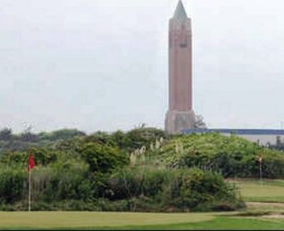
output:
POLYGON ((217 171, 223 177, 259 178, 259 156, 263 157, 264 178, 284 177, 284 153, 263 148, 240 137, 218 133, 180 135, 160 151, 166 166, 184 168, 197 166, 217 171))

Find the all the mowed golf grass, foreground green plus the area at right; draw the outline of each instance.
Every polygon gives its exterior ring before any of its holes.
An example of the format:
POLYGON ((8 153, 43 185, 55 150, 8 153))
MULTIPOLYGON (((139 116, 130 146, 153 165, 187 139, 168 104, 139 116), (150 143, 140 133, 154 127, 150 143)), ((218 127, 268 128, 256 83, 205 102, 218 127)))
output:
POLYGON ((241 212, 0 212, 5 230, 283 230, 284 181, 231 181, 248 209, 241 212), (243 212, 277 216, 241 217, 243 212))

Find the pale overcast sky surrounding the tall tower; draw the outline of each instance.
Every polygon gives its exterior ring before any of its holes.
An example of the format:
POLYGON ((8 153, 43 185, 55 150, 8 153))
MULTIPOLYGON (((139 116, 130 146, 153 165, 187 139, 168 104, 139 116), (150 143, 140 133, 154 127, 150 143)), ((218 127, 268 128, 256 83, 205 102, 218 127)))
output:
MULTIPOLYGON (((0 127, 164 126, 177 0, 0 0, 0 127)), ((185 0, 211 128, 284 122, 283 0, 185 0)))

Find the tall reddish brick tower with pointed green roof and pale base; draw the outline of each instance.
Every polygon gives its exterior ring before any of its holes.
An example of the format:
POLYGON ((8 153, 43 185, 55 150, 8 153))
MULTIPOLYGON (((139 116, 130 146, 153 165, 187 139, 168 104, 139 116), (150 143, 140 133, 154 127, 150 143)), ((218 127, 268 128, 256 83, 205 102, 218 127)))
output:
POLYGON ((195 127, 193 111, 193 63, 191 19, 179 0, 169 23, 168 35, 169 109, 166 113, 166 131, 179 133, 195 127))

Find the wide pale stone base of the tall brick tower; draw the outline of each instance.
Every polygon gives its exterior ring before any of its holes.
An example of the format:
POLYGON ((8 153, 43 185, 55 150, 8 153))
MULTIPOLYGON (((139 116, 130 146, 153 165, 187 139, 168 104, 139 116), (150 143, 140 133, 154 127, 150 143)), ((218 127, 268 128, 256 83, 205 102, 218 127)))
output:
POLYGON ((195 112, 168 111, 166 113, 165 128, 167 133, 176 134, 183 129, 194 129, 196 122, 195 112))

